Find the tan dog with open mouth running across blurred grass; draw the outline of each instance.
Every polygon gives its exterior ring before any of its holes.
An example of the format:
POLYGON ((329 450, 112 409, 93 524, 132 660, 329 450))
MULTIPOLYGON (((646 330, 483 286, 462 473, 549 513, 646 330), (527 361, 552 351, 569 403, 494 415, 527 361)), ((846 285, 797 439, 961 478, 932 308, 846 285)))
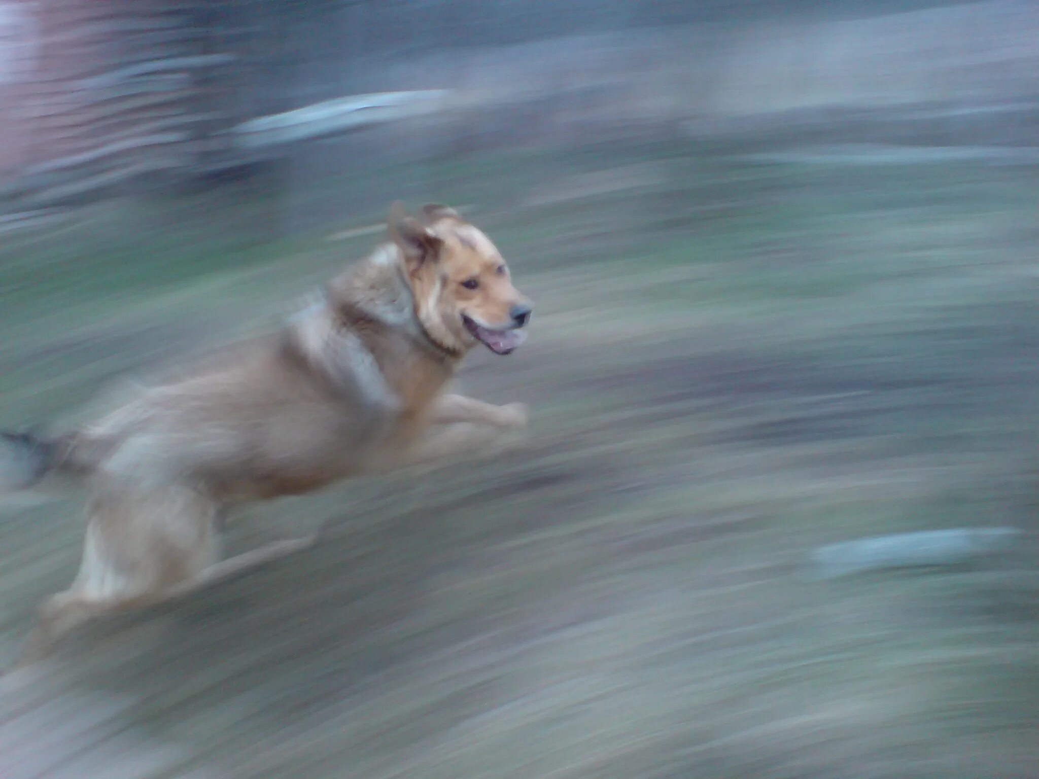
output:
POLYGON ((470 445, 438 437, 433 425, 526 423, 522 406, 443 393, 474 346, 508 354, 525 338, 531 306, 498 249, 445 206, 426 206, 422 220, 395 206, 390 235, 276 335, 68 435, 4 434, 8 487, 64 476, 90 495, 79 573, 41 608, 23 662, 95 615, 195 590, 314 541, 220 561, 215 525, 228 507, 470 445))

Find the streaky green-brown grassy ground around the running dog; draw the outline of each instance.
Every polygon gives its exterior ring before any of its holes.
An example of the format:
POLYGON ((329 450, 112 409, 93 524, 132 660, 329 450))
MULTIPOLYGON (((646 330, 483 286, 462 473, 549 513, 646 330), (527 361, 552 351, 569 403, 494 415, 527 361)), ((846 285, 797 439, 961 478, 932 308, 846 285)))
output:
MULTIPOLYGON (((1034 777, 1036 172, 524 152, 5 238, 5 426, 270 326, 401 194, 472 204, 536 308, 460 382, 530 403, 523 441, 252 512, 232 550, 327 540, 0 687, 0 775, 1034 777), (287 237, 340 194, 375 206, 287 237), (1000 525, 1006 560, 801 575, 1000 525)), ((81 536, 74 501, 3 510, 3 657, 81 536)))

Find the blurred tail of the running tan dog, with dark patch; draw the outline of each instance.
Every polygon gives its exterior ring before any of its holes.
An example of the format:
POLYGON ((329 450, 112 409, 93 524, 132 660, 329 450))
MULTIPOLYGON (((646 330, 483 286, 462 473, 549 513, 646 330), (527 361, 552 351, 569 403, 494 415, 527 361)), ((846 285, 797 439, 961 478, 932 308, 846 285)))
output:
POLYGON ((87 476, 97 464, 88 444, 79 433, 46 437, 0 431, 0 494, 35 489, 52 477, 87 476))

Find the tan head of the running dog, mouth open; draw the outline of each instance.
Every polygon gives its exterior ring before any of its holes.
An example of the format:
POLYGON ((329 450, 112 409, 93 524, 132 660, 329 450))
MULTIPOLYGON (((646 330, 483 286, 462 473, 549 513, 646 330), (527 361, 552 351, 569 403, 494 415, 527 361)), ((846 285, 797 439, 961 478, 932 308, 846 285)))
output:
POLYGON ((395 204, 390 237, 400 249, 419 321, 444 349, 464 353, 482 343, 509 354, 526 339, 531 303, 515 287, 501 252, 447 206, 416 219, 395 204))

